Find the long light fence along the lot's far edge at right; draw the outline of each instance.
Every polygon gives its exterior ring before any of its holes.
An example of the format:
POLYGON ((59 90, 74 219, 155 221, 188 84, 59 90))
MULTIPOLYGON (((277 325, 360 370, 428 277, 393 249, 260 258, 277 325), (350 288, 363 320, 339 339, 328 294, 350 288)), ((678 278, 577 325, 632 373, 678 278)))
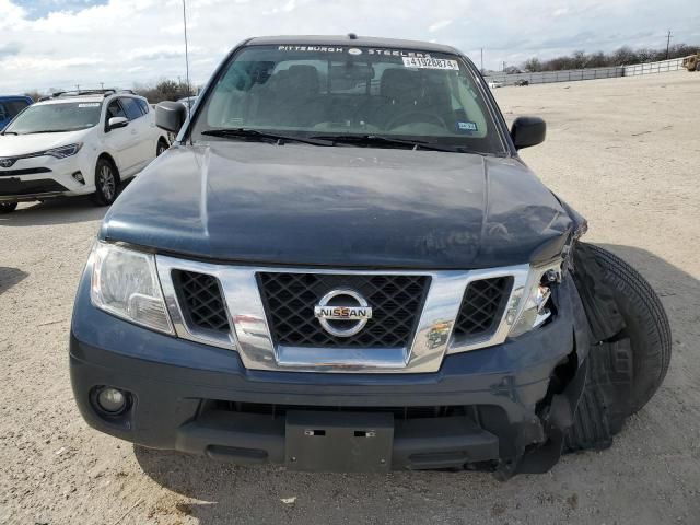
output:
POLYGON ((485 75, 485 79, 487 82, 501 82, 503 85, 514 85, 518 80, 526 80, 530 84, 546 84, 550 82, 573 82, 578 80, 665 73, 682 69, 681 63, 682 58, 673 58, 660 62, 634 63, 631 66, 615 66, 609 68, 568 69, 564 71, 541 71, 538 73, 492 73, 485 75))

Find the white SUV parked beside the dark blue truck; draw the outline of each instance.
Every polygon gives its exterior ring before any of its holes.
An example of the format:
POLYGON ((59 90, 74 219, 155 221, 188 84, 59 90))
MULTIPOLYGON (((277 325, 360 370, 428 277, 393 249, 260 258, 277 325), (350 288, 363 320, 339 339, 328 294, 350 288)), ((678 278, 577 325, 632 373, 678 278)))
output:
POLYGON ((121 180, 168 148, 148 101, 131 92, 66 92, 18 115, 0 135, 0 213, 19 201, 92 194, 114 202, 121 180))

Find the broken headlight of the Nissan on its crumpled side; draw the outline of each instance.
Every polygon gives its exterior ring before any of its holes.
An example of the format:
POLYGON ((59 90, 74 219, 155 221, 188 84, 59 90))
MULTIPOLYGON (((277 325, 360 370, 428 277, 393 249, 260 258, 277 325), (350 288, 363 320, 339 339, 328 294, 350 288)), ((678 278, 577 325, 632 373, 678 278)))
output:
POLYGON ((561 261, 546 267, 533 268, 525 287, 513 292, 506 312, 511 325, 510 337, 517 337, 541 326, 550 316, 550 287, 561 279, 561 261))

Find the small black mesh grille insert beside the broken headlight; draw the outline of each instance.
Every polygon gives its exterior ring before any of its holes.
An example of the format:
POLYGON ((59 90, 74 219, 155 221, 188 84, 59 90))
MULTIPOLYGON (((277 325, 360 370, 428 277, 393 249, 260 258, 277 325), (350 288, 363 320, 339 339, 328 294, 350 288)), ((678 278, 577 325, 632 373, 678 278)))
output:
POLYGON ((511 276, 471 281, 462 300, 455 338, 491 336, 503 317, 512 288, 511 276))

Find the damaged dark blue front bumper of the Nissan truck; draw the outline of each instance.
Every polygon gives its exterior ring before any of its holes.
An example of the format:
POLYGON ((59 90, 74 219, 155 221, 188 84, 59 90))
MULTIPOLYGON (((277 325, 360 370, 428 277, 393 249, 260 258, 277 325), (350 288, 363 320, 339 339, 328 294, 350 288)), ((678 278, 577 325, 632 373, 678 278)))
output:
POLYGON ((247 370, 235 351, 161 335, 96 310, 84 278, 71 328, 71 382, 89 424, 149 447, 310 469, 488 466, 504 477, 546 471, 571 425, 588 347, 570 278, 558 287, 556 301, 557 317, 547 326, 503 345, 446 355, 436 373, 271 372, 247 370), (104 385, 130 393, 127 413, 110 418, 95 408, 91 394, 104 385), (381 466, 338 463, 339 454, 324 447, 315 448, 319 463, 294 465, 294 451, 304 448, 292 434, 300 417, 315 421, 312 430, 336 435, 347 421, 375 424, 377 413, 390 421, 385 430, 393 433, 390 458, 381 466))

